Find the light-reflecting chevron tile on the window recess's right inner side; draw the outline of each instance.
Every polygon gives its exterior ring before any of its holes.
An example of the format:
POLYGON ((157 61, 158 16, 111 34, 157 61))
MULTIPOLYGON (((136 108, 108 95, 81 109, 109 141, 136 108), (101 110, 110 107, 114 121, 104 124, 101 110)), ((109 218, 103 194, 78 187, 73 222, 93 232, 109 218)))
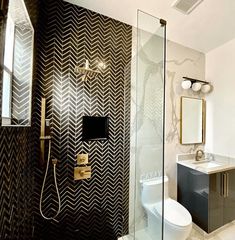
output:
POLYGON ((31 29, 15 27, 14 66, 12 77, 12 124, 29 124, 31 101, 30 91, 31 68, 32 68, 32 36, 31 29))

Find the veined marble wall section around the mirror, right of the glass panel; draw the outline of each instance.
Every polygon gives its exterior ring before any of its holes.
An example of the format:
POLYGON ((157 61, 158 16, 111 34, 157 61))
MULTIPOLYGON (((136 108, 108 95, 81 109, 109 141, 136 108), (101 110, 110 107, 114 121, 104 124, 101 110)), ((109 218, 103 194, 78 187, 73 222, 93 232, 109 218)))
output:
POLYGON ((167 42, 167 49, 165 171, 169 177, 170 196, 176 199, 176 154, 194 153, 204 148, 199 144, 180 144, 180 97, 203 97, 183 90, 181 81, 182 77, 205 78, 205 55, 171 41, 167 42))

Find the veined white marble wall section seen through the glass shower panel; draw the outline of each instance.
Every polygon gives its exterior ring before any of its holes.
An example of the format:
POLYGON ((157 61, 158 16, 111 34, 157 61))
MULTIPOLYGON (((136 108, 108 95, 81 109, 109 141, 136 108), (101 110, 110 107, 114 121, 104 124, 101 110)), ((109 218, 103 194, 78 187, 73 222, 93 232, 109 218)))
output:
POLYGON ((141 31, 139 41, 141 48, 138 52, 138 64, 136 64, 136 30, 133 29, 129 195, 130 232, 141 230, 147 224, 146 213, 141 204, 141 178, 153 174, 155 176, 162 175, 162 44, 163 40, 161 37, 141 31), (156 54, 156 52, 159 54, 156 54), (136 65, 138 65, 137 69, 136 65))

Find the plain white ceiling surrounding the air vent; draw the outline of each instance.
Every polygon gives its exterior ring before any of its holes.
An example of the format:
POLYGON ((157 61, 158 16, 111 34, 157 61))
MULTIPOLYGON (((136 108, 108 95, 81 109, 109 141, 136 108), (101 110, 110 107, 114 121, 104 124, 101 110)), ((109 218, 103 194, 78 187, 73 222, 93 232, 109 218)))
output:
POLYGON ((137 9, 167 20, 167 38, 201 52, 235 38, 235 0, 204 0, 189 15, 171 7, 175 0, 66 0, 136 26, 137 9))

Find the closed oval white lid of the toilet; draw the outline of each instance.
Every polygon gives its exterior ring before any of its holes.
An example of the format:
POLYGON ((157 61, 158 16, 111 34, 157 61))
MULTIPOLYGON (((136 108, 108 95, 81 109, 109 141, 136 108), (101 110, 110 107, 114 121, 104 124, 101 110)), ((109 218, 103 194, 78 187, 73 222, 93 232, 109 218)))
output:
MULTIPOLYGON (((162 215, 162 203, 159 202, 154 207, 154 212, 162 215)), ((188 210, 173 199, 164 202, 164 221, 169 224, 184 227, 192 222, 192 217, 188 210)))

